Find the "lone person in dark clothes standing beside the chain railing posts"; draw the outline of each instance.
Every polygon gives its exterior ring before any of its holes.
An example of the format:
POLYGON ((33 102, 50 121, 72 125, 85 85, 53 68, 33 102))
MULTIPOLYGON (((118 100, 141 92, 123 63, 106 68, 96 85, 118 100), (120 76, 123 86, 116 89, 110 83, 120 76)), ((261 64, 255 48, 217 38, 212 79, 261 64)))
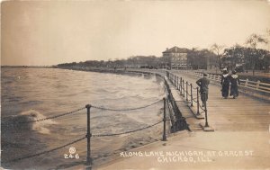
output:
POLYGON ((204 103, 208 100, 208 85, 210 84, 207 74, 203 73, 203 77, 197 80, 196 84, 200 86, 202 107, 204 107, 204 103))

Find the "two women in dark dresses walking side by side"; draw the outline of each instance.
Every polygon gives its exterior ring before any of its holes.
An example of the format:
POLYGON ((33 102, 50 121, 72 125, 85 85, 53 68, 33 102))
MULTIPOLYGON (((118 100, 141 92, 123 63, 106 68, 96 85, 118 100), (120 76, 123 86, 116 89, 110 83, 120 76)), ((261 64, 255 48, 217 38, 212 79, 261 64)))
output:
POLYGON ((228 70, 226 68, 223 69, 220 84, 222 85, 221 94, 224 99, 227 99, 229 95, 232 95, 234 99, 238 97, 238 85, 240 85, 240 80, 235 70, 232 71, 232 75, 229 75, 228 70))

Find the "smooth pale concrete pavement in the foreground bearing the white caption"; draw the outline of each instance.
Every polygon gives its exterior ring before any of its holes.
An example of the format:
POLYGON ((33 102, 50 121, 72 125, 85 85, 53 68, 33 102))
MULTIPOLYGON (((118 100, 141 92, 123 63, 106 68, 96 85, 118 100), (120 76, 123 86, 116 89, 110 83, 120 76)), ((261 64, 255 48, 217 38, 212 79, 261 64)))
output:
POLYGON ((268 132, 187 132, 119 154, 99 170, 270 169, 268 132))

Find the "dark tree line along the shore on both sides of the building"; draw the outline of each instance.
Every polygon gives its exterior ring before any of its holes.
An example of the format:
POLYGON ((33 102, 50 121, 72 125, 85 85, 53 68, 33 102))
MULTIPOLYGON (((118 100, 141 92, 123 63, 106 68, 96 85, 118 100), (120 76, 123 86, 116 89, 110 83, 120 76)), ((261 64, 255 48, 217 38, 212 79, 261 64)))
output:
MULTIPOLYGON (((267 30, 270 37, 270 30, 267 30)), ((269 72, 270 53, 266 49, 257 49, 258 44, 267 44, 268 40, 263 36, 251 34, 245 43, 245 47, 234 45, 226 48, 224 45, 214 43, 210 49, 189 49, 187 52, 187 66, 192 69, 206 69, 209 63, 214 63, 220 69, 228 67, 243 70, 265 70, 269 72)), ((88 60, 85 62, 72 62, 58 64, 57 67, 148 67, 161 68, 167 58, 156 56, 131 56, 127 59, 88 60)))

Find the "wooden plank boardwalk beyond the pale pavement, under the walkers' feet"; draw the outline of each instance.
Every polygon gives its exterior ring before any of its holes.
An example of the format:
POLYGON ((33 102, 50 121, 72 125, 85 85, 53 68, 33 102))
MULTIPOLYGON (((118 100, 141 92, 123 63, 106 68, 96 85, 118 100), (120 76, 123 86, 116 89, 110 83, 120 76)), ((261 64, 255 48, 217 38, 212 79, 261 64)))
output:
MULTIPOLYGON (((184 81, 196 85, 196 78, 181 71, 173 71, 184 81)), ((223 99, 219 85, 209 85, 207 102, 208 122, 214 130, 220 131, 269 131, 270 104, 246 94, 239 94, 237 99, 223 99)), ((204 122, 204 120, 202 120, 204 122)))

